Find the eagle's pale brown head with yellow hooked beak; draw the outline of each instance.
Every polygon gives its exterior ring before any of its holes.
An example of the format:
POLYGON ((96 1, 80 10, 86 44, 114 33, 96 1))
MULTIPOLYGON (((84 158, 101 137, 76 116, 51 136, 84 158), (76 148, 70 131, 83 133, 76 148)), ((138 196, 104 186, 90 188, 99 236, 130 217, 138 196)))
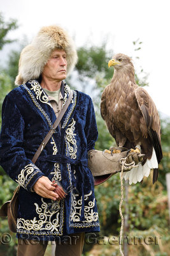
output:
POLYGON ((134 68, 132 64, 132 59, 122 53, 118 53, 108 62, 108 67, 114 66, 116 70, 120 70, 122 68, 134 68))

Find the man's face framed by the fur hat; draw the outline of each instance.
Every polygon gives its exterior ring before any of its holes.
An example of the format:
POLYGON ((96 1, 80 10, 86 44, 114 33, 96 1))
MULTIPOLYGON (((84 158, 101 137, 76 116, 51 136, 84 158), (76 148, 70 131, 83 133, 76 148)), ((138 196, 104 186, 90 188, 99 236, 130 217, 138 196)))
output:
POLYGON ((50 81, 62 81, 66 79, 66 74, 66 52, 60 49, 54 50, 43 69, 42 76, 50 81))

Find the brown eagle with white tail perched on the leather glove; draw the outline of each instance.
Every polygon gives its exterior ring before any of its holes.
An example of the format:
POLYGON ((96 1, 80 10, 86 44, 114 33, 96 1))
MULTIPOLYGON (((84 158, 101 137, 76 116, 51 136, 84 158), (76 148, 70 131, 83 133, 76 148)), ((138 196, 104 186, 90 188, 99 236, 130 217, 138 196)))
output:
POLYGON ((101 116, 118 147, 145 154, 138 168, 123 173, 124 179, 129 179, 129 184, 142 182, 153 169, 154 184, 162 159, 159 113, 148 92, 136 84, 134 65, 129 56, 116 54, 108 62, 108 67, 111 66, 115 70, 111 83, 102 93, 101 116))

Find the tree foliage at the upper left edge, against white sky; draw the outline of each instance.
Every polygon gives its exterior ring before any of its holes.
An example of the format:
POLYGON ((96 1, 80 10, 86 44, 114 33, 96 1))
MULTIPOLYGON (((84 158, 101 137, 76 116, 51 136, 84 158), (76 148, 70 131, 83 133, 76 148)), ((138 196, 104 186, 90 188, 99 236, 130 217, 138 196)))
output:
POLYGON ((0 13, 0 50, 3 49, 5 44, 10 44, 15 40, 6 39, 6 35, 13 29, 17 29, 17 20, 10 19, 8 22, 4 21, 2 13, 0 13))

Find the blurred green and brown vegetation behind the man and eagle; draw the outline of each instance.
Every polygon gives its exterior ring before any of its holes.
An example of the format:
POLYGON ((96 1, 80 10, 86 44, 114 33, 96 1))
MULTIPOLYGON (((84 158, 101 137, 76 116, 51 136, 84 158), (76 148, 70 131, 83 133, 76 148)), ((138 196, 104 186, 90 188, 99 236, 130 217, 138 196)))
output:
MULTIPOLYGON (((5 21, 0 13, 0 51, 3 46, 10 44, 13 40, 8 39, 8 32, 17 29, 17 20, 5 21)), ((18 42, 22 48, 24 45, 18 42)), ((138 51, 141 49, 142 42, 136 40, 134 44, 134 52, 136 60, 138 59, 138 51)), ((104 150, 115 145, 115 141, 111 138, 106 125, 100 115, 101 93, 104 87, 110 83, 113 76, 113 69, 108 68, 108 60, 113 56, 114 52, 107 49, 106 41, 101 46, 85 44, 78 48, 79 61, 75 71, 68 77, 67 83, 71 88, 76 88, 85 92, 92 97, 96 110, 97 127, 99 138, 96 142, 97 150, 104 150)), ((18 59, 20 50, 15 49, 10 52, 8 60, 0 66, 0 112, 5 95, 15 88, 15 77, 18 72, 18 59)), ((135 61, 135 60, 134 60, 135 61)), ((143 69, 136 74, 136 81, 139 86, 148 86, 147 76, 143 69)), ((0 113, 1 114, 1 113, 0 113)), ((129 237, 157 237, 157 244, 147 245, 145 243, 128 246, 129 253, 127 255, 138 256, 167 256, 169 255, 169 214, 167 207, 167 188, 166 173, 170 168, 170 120, 167 116, 160 113, 162 127, 162 149, 164 158, 159 164, 159 180, 152 186, 152 175, 148 179, 144 179, 143 184, 134 184, 125 189, 125 201, 123 205, 123 213, 127 219, 125 234, 129 237)), ((1 125, 1 120, 0 120, 1 125)), ((0 167, 0 205, 6 200, 10 200, 13 190, 17 184, 11 180, 3 168, 0 167)), ((119 236, 120 216, 118 205, 120 202, 120 177, 114 175, 104 184, 97 186, 96 189, 97 207, 99 211, 99 220, 101 223, 100 236, 107 237, 119 236)), ((11 243, 2 244, 0 241, 0 256, 16 255, 17 239, 15 234, 8 230, 7 220, 0 222, 0 235, 8 232, 11 234, 11 243)), ((126 244, 126 241, 124 241, 126 244)), ((50 255, 50 250, 46 252, 50 255)), ((85 243, 83 255, 86 256, 107 256, 119 255, 118 244, 95 244, 85 243)))

